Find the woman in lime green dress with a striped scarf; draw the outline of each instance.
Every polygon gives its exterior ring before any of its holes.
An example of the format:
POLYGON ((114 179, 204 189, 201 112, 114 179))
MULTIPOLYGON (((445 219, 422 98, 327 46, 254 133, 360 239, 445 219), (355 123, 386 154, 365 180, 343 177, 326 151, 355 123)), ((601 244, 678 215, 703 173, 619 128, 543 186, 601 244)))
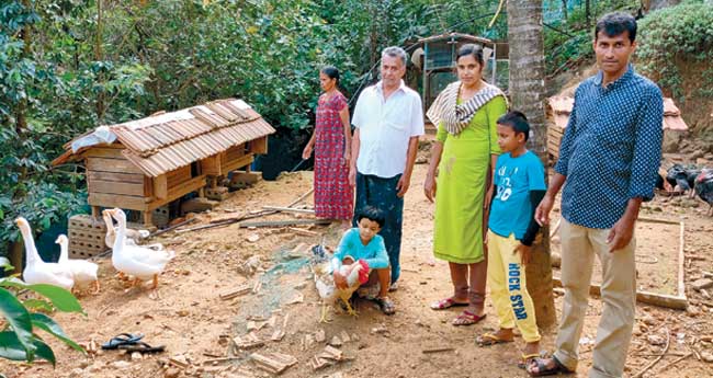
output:
POLYGON ((483 80, 484 66, 483 48, 463 45, 456 57, 459 81, 439 94, 427 114, 438 125, 423 183, 426 197, 435 201, 433 254, 448 261, 454 288, 452 296, 431 303, 431 309, 466 307, 454 325, 485 318, 484 236, 491 170, 500 153, 496 121, 508 104, 502 91, 483 80))

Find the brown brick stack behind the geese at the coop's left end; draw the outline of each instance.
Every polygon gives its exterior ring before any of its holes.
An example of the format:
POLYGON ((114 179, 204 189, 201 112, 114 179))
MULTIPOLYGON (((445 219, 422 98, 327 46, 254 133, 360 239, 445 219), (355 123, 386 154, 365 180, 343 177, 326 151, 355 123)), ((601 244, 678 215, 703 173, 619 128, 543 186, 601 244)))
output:
POLYGON ((106 225, 102 219, 79 214, 69 218, 69 256, 88 259, 107 250, 104 243, 106 225))

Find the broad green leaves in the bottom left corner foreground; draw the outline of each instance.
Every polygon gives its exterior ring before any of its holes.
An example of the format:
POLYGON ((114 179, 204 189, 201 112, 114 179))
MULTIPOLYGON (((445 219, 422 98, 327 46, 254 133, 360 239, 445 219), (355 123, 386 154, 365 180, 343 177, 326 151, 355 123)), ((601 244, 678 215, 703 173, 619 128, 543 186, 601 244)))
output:
POLYGON ((50 362, 54 366, 55 354, 36 334, 36 330, 43 330, 73 350, 84 352, 52 318, 32 310, 37 307, 37 303, 43 303, 41 307, 45 309, 52 309, 52 306, 41 299, 27 299, 22 302, 8 288, 35 291, 49 299, 54 308, 59 311, 82 312, 77 298, 63 288, 52 285, 27 285, 16 278, 0 278, 0 314, 8 323, 7 329, 0 332, 0 357, 30 363, 38 357, 50 362))

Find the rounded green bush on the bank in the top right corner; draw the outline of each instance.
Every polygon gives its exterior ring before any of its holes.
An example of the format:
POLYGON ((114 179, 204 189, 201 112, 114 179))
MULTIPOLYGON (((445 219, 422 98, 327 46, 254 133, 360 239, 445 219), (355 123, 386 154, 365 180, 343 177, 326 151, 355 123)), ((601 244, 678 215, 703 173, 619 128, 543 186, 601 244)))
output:
MULTIPOLYGON (((640 28, 636 58, 641 71, 684 101, 680 67, 713 59, 713 4, 699 0, 665 8, 646 16, 640 28)), ((704 82, 697 94, 711 98, 713 76, 706 72, 701 75, 704 82)))

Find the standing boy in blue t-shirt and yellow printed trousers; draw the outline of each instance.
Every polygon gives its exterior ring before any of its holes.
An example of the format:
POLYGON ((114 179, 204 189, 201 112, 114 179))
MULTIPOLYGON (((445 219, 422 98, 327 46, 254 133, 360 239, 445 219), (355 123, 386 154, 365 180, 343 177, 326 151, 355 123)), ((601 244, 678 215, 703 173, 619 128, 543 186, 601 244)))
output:
POLYGON ((500 330, 477 337, 482 345, 513 341, 517 325, 525 341, 522 363, 539 356, 540 333, 532 298, 528 294, 524 265, 540 230, 534 209, 545 194, 544 168, 525 148, 530 125, 524 114, 509 112, 498 119, 498 158, 494 198, 488 220, 488 280, 500 330), (518 256, 519 254, 519 256, 518 256))

